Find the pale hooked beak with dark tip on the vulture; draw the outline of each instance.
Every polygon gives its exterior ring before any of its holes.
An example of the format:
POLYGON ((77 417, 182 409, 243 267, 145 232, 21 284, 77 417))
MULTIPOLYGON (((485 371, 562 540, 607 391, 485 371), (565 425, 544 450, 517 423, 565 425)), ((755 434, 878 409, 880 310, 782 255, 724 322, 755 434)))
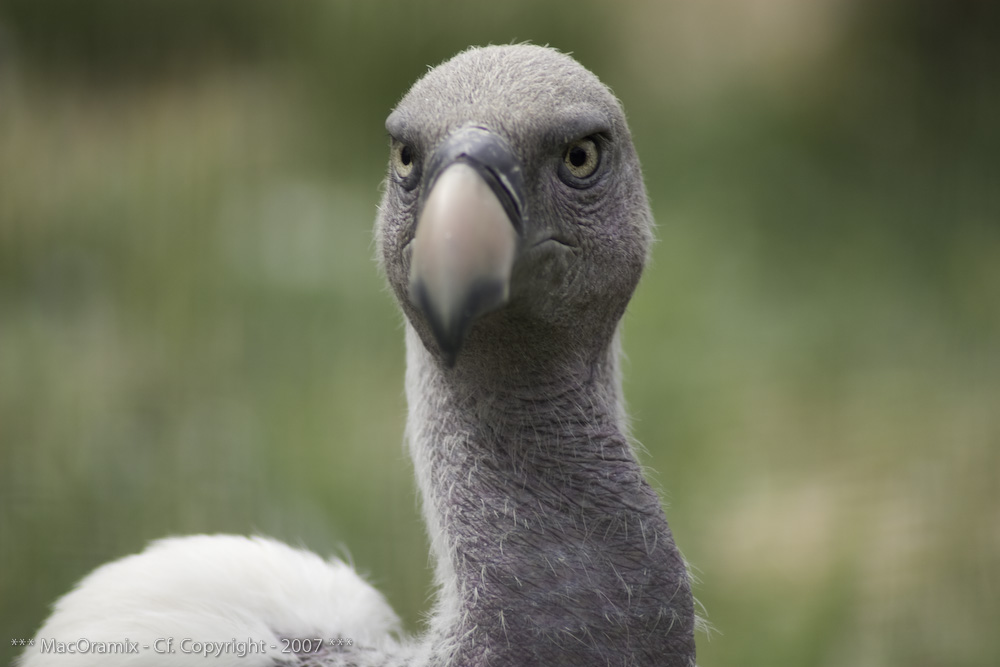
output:
POLYGON ((410 302, 447 366, 472 323, 507 302, 524 226, 524 186, 498 135, 467 127, 431 156, 410 259, 410 302))

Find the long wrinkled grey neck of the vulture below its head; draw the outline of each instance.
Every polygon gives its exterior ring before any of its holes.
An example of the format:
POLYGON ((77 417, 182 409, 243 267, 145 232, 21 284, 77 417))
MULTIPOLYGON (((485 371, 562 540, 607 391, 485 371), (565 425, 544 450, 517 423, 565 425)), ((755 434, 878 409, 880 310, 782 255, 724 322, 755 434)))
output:
POLYGON ((684 563, 625 436, 617 342, 486 384, 408 331, 440 586, 432 664, 694 664, 684 563))

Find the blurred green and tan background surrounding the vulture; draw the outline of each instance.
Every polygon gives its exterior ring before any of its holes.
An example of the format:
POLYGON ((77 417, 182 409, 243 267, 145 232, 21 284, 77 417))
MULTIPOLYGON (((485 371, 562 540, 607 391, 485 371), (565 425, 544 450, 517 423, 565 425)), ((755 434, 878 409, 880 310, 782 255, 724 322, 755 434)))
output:
POLYGON ((420 628, 383 120, 530 40, 643 159, 626 391, 700 664, 1000 664, 995 7, 3 0, 0 662, 192 532, 349 552, 420 628))

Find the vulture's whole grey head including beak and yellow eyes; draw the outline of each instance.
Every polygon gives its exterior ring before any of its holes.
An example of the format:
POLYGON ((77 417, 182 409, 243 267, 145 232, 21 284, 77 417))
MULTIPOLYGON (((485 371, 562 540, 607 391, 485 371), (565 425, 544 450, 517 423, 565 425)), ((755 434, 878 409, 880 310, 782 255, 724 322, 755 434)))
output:
POLYGON ((386 128, 381 260, 431 355, 496 369, 606 349, 652 226, 611 91, 549 48, 470 49, 386 128))

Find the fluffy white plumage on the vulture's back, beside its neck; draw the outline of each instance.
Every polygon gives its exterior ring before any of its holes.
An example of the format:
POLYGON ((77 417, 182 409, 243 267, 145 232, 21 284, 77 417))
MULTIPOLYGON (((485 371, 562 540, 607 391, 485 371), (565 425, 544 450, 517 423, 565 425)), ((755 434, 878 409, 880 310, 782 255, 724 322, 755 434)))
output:
POLYGON ((390 648, 399 627, 382 594, 338 559, 264 537, 192 535, 153 542, 92 572, 56 603, 18 664, 190 665, 199 657, 190 651, 212 642, 220 652, 208 656, 213 666, 262 667, 295 657, 282 639, 390 648), (97 652, 126 639, 137 654, 97 652), (263 652, 240 657, 236 642, 248 641, 263 652), (76 643, 77 652, 55 653, 52 642, 67 650, 76 643), (234 643, 219 648, 226 642, 234 643))

